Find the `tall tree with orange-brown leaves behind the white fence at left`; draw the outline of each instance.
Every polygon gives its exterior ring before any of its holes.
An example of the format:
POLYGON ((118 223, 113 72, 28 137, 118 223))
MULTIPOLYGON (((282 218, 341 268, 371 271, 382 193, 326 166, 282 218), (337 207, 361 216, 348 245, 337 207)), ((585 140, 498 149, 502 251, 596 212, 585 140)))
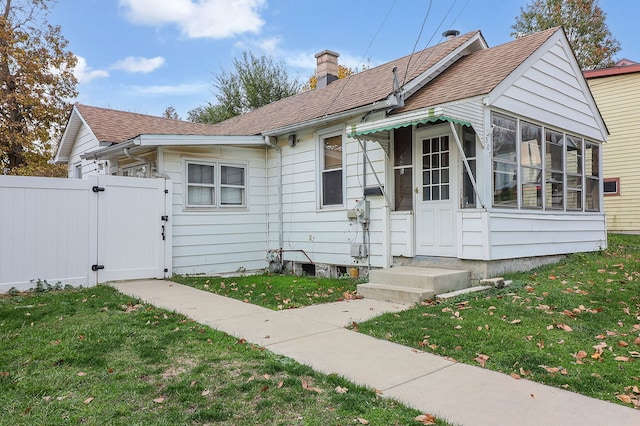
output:
POLYGON ((77 96, 76 57, 46 21, 53 4, 0 0, 0 169, 10 174, 64 173, 48 160, 77 96))

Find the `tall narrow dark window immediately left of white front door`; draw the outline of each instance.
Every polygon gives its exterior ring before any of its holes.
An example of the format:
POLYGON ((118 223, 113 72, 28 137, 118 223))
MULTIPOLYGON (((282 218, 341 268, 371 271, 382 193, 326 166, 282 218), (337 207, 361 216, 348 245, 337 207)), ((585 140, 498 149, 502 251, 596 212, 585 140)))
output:
POLYGON ((393 131, 393 175, 395 210, 413 210, 412 126, 393 131))

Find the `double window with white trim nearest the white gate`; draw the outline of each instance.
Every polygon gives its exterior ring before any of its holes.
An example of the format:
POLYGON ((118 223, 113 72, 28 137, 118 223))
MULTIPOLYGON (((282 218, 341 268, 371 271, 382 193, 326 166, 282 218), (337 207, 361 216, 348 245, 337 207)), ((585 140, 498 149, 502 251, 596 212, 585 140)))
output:
POLYGON ((185 207, 246 206, 246 174, 244 164, 185 161, 185 207))

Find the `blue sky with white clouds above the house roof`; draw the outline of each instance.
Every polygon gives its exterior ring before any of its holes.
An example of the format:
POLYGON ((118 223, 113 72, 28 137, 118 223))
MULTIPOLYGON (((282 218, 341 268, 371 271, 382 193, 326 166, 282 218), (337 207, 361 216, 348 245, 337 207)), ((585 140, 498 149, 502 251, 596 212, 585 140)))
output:
MULTIPOLYGON (((284 61, 306 81, 314 54, 340 53, 348 67, 375 66, 442 41, 442 32, 481 30, 489 46, 510 41, 529 0, 59 0, 78 57, 77 101, 161 115, 215 102, 213 81, 245 50, 284 61), (426 21, 425 21, 426 16, 426 21), (421 36, 420 28, 425 23, 421 36)), ((618 59, 640 61, 636 0, 600 0, 620 41, 618 59), (633 19, 630 19, 632 18, 633 19)))

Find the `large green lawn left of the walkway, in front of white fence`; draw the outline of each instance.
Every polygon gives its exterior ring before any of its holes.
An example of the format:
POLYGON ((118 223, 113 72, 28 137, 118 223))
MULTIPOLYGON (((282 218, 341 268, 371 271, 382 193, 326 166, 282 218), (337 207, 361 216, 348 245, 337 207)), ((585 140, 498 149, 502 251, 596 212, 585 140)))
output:
POLYGON ((0 297, 0 407, 11 425, 407 425, 421 414, 106 286, 0 297))

